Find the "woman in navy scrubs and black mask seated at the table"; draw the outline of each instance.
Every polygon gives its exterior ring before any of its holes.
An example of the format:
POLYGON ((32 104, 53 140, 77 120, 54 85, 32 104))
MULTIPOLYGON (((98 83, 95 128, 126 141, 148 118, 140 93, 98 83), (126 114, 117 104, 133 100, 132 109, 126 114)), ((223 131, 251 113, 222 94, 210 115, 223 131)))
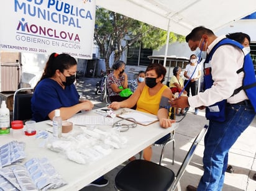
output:
POLYGON ((70 55, 50 55, 31 99, 33 120, 52 120, 55 109, 60 109, 62 120, 81 110, 93 109, 91 101, 79 100, 80 96, 74 85, 76 66, 75 58, 70 55))

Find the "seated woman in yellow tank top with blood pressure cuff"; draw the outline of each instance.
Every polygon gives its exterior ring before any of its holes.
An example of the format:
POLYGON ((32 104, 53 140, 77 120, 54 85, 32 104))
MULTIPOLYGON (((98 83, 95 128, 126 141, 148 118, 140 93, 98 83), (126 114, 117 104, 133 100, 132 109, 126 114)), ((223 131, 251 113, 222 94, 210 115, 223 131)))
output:
MULTIPOLYGON (((145 82, 139 84, 134 94, 122 102, 112 102, 110 108, 116 110, 122 107, 131 108, 137 104, 136 110, 157 115, 160 126, 171 127, 168 100, 172 94, 170 88, 162 84, 165 79, 166 69, 161 64, 150 64, 146 69, 145 82)), ((150 161, 152 157, 151 146, 144 149, 144 159, 150 161)))

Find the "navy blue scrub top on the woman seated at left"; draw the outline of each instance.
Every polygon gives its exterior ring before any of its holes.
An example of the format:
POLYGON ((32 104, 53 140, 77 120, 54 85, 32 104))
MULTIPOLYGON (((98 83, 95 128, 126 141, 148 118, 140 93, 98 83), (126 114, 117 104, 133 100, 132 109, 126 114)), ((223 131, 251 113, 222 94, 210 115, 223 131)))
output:
POLYGON ((31 99, 32 120, 48 120, 48 114, 61 107, 71 107, 79 103, 79 94, 74 84, 63 89, 57 81, 46 78, 37 84, 31 99))

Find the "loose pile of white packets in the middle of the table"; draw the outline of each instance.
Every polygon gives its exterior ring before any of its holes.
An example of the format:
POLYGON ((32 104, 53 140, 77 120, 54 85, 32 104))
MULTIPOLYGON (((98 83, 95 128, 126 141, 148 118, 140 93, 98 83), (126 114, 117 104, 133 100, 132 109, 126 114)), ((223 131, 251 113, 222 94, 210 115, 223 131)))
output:
POLYGON ((127 138, 115 130, 80 127, 83 133, 62 137, 47 144, 47 148, 65 154, 79 164, 96 161, 111 153, 113 149, 124 148, 127 138))

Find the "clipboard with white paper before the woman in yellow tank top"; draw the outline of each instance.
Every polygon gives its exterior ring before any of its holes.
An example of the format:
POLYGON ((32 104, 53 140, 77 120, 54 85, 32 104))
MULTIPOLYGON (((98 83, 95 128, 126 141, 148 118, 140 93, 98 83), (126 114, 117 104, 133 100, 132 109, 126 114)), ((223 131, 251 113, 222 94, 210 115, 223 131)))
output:
POLYGON ((158 122, 158 118, 155 115, 149 116, 147 114, 143 114, 140 112, 126 112, 126 113, 122 113, 122 114, 117 114, 117 117, 120 118, 134 118, 136 123, 140 124, 140 125, 150 125, 152 123, 158 122))

